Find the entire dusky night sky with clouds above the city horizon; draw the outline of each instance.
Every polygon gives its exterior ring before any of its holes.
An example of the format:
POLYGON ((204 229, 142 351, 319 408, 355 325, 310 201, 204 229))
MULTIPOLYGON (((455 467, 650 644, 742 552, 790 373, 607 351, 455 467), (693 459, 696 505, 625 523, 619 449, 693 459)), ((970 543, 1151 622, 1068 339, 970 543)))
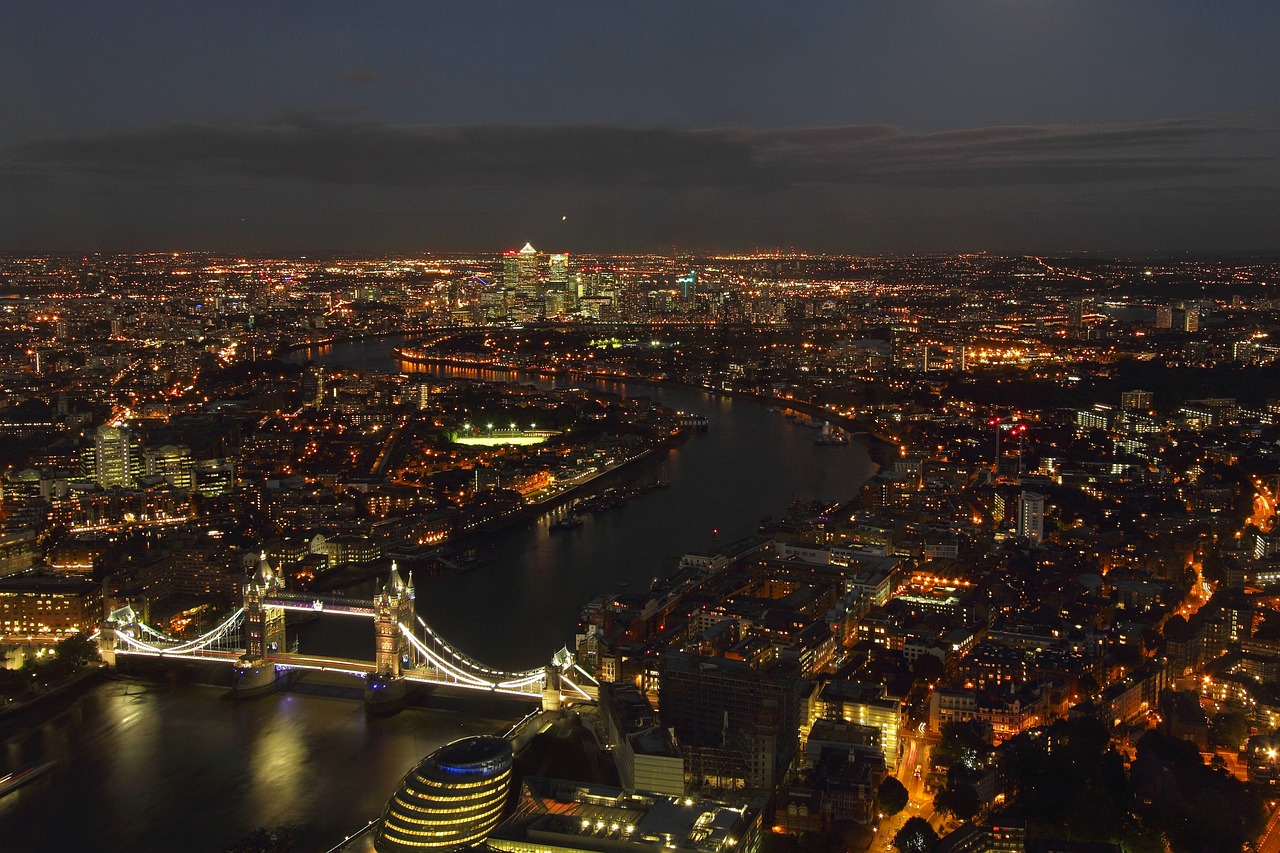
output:
POLYGON ((0 4, 0 250, 1280 252, 1280 3, 0 4))

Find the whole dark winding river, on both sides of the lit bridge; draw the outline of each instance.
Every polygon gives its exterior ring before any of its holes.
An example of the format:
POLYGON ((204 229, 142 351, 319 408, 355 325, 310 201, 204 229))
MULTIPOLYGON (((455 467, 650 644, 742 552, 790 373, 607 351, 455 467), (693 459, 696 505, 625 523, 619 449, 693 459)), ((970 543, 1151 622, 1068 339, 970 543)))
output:
MULTIPOLYGON (((332 366, 408 370, 394 341, 296 353, 332 366)), ((462 369, 444 377, 545 379, 462 369)), ((709 429, 625 476, 660 478, 628 505, 553 530, 544 514, 492 542, 492 564, 415 578, 419 613, 479 661, 525 669, 572 642, 582 606, 603 593, 643 592, 682 553, 724 544, 781 516, 796 498, 845 500, 876 471, 861 444, 819 447, 814 430, 755 400, 682 387, 593 382, 703 414, 709 429)), ((325 620, 302 626, 303 653, 367 656, 372 626, 325 620)), ((326 849, 381 808, 399 777, 438 745, 506 729, 527 704, 486 697, 433 698, 390 719, 358 701, 302 692, 232 702, 206 686, 93 688, 54 720, 0 730, 0 768, 46 761, 52 770, 0 799, 0 849, 221 850, 259 826, 300 826, 297 849, 326 849)))

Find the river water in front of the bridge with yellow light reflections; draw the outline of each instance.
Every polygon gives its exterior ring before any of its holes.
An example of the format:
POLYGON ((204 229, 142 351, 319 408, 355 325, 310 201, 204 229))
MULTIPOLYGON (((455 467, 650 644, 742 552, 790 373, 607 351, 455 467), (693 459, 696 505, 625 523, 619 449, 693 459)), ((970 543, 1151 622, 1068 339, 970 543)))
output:
POLYGON ((260 826, 292 824, 297 850, 325 850, 381 809, 436 747, 504 730, 525 704, 434 697, 370 717, 358 699, 225 688, 93 688, 70 710, 0 739, 0 766, 56 762, 0 798, 0 850, 218 853, 260 826))

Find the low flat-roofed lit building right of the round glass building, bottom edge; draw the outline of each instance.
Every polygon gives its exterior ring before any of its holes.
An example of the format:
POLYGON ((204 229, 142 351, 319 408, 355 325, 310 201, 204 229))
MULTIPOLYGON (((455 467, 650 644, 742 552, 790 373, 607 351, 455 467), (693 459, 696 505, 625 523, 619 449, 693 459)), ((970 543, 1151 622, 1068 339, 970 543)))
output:
POLYGON ((486 845, 503 853, 730 853, 753 849, 756 830, 745 808, 716 800, 530 776, 486 845))

